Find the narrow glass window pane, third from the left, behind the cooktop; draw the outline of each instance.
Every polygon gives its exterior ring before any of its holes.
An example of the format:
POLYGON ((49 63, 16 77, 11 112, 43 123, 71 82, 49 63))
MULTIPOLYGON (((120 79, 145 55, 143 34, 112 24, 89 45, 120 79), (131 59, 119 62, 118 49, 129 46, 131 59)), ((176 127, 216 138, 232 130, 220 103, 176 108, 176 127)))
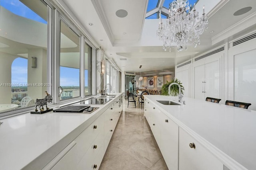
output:
POLYGON ((84 96, 92 95, 92 47, 84 43, 84 96))

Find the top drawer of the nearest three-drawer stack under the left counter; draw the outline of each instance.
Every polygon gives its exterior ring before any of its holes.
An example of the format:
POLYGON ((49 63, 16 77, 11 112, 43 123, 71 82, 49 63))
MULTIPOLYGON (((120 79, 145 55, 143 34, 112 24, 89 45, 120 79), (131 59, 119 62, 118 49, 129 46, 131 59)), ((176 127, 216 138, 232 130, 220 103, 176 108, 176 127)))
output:
POLYGON ((80 160, 93 141, 100 134, 104 133, 104 115, 100 115, 92 124, 89 125, 75 140, 77 143, 77 156, 80 160))

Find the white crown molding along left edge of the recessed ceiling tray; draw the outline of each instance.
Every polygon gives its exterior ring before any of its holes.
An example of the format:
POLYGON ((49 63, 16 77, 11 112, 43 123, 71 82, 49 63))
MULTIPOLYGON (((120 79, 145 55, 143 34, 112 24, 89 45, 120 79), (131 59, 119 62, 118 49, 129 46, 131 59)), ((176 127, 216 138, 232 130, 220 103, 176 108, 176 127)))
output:
POLYGON ((105 17, 106 15, 104 14, 104 10, 102 8, 102 5, 100 3, 100 0, 92 0, 92 4, 98 14, 98 17, 100 18, 100 21, 108 35, 108 38, 113 45, 114 43, 114 35, 111 31, 110 25, 108 24, 107 18, 105 17))

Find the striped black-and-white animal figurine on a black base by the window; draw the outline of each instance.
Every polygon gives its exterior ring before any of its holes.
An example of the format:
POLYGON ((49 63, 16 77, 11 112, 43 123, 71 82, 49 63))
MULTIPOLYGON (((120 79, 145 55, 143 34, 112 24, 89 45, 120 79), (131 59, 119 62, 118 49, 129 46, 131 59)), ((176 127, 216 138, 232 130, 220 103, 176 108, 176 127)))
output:
POLYGON ((31 114, 42 114, 42 113, 46 113, 48 111, 52 111, 53 110, 53 109, 49 109, 47 107, 47 103, 52 102, 52 96, 50 94, 48 94, 47 91, 45 91, 45 92, 46 92, 45 98, 43 98, 43 99, 36 99, 36 102, 35 102, 36 108, 35 108, 34 112, 30 112, 31 114), (44 105, 46 106, 46 110, 45 111, 44 111, 44 105), (39 107, 40 112, 38 111, 37 107, 39 107))

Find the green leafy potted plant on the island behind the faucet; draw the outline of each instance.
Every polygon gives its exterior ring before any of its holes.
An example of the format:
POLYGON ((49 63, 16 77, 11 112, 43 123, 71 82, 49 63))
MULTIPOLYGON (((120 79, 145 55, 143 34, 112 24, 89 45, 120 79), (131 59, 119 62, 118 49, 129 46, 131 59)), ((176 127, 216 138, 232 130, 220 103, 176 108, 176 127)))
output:
MULTIPOLYGON (((166 81, 166 84, 164 84, 162 86, 162 90, 161 90, 161 95, 165 95, 165 96, 168 96, 168 88, 169 88, 169 85, 173 82, 176 82, 178 84, 180 84, 180 91, 181 91, 181 94, 184 94, 184 87, 182 86, 182 83, 180 82, 180 80, 178 80, 176 78, 176 80, 172 79, 170 82, 166 81)), ((171 92, 171 96, 178 96, 179 95, 179 88, 178 88, 178 85, 174 84, 171 86, 170 88, 170 92, 171 92)))

